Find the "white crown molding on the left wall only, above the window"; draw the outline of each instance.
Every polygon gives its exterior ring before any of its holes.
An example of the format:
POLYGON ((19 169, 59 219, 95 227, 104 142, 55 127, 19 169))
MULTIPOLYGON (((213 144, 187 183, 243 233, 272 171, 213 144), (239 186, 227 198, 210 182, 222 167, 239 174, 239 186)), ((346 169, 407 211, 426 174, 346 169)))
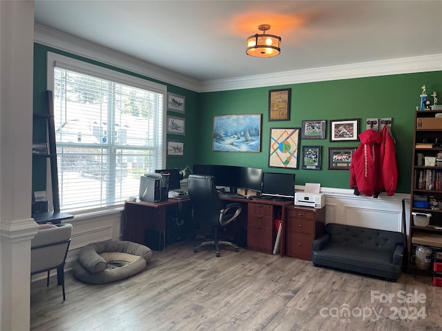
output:
POLYGON ((96 43, 91 43, 90 41, 75 37, 72 34, 67 34, 39 23, 35 23, 34 25, 34 41, 45 46, 56 48, 57 50, 64 50, 65 52, 70 52, 80 57, 86 57, 108 64, 109 66, 115 66, 136 74, 141 74, 151 79, 157 79, 163 83, 180 86, 181 88, 195 92, 202 90, 201 81, 154 66, 152 63, 131 57, 122 52, 117 52, 116 50, 111 50, 96 43))

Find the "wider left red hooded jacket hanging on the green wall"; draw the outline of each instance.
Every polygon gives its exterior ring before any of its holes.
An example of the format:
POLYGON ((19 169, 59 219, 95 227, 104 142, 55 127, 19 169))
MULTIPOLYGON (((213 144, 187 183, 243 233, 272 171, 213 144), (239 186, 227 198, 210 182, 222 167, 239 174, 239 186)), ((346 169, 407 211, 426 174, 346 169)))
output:
POLYGON ((375 192, 381 193, 383 188, 380 159, 382 136, 368 129, 359 134, 359 138, 361 145, 352 155, 350 165, 350 188, 371 197, 375 192))

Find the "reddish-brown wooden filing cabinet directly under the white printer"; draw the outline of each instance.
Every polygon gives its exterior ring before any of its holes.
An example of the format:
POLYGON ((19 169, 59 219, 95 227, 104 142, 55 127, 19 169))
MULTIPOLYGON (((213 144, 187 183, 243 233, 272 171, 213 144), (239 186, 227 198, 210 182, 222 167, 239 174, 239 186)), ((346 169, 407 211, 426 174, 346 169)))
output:
POLYGON ((311 260, 311 243, 324 233, 325 208, 287 207, 285 254, 287 257, 311 260))

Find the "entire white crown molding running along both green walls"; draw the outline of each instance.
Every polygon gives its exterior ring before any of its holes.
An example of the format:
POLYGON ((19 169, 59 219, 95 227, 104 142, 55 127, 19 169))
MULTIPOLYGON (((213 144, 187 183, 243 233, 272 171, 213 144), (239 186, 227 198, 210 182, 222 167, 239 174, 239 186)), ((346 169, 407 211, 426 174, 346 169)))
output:
POLYGON ((81 57, 106 63, 109 66, 122 68, 163 83, 186 88, 194 92, 218 92, 224 90, 242 90, 244 88, 261 88, 314 81, 334 81, 362 77, 386 76, 390 74, 409 74, 442 70, 442 54, 407 57, 365 63, 352 63, 343 66, 311 68, 287 72, 274 72, 232 79, 215 79, 198 81, 172 72, 152 63, 131 57, 80 39, 72 34, 35 23, 34 41, 57 50, 64 50, 81 57))

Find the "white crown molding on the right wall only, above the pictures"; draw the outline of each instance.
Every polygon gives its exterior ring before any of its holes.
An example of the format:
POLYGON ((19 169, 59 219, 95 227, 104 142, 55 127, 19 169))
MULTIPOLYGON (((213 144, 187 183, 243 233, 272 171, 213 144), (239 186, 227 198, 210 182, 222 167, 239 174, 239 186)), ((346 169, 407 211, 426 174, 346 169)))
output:
POLYGON ((430 72, 442 70, 442 54, 422 57, 407 57, 385 61, 354 63, 343 66, 312 68, 273 74, 260 74, 234 79, 216 79, 204 81, 202 92, 240 90, 243 88, 262 88, 314 81, 334 81, 361 77, 386 76, 390 74, 410 74, 413 72, 430 72))

